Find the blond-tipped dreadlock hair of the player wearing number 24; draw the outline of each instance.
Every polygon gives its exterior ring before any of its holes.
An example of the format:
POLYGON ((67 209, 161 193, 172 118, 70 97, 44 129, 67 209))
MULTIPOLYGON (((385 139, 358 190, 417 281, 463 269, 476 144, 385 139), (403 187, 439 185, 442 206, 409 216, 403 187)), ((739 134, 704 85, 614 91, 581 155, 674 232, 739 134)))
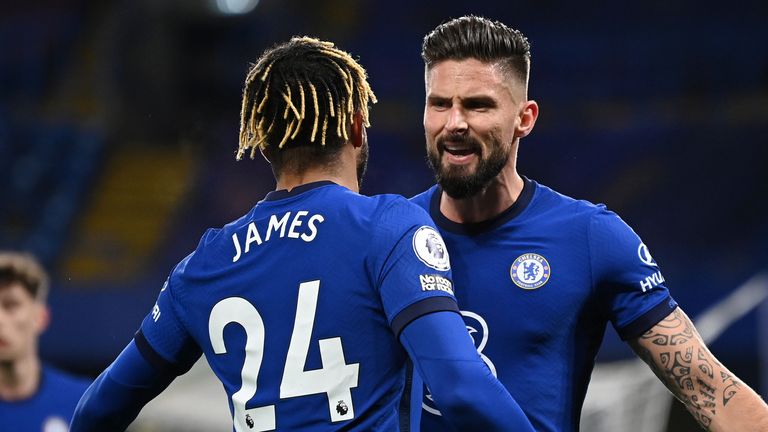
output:
POLYGON ((333 43, 310 37, 267 49, 245 78, 237 159, 261 150, 275 175, 333 163, 360 112, 376 96, 365 69, 333 43))

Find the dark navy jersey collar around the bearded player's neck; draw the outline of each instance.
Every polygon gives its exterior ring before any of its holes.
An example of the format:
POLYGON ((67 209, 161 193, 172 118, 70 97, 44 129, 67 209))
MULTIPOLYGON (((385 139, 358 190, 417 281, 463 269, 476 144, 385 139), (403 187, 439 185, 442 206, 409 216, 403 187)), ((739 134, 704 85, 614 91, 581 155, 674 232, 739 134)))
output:
POLYGON ((520 191, 520 196, 517 197, 514 203, 506 210, 501 212, 498 216, 484 220, 482 222, 473 223, 456 223, 447 217, 443 216, 440 212, 440 197, 443 195, 443 188, 439 185, 432 192, 432 198, 429 202, 429 214, 432 216, 432 220, 435 221, 441 230, 449 231, 456 234, 464 235, 478 235, 488 231, 493 231, 496 228, 504 225, 512 220, 515 216, 522 213, 528 207, 533 199, 533 192, 536 190, 536 183, 533 180, 529 180, 527 177, 523 177, 523 190, 520 191))

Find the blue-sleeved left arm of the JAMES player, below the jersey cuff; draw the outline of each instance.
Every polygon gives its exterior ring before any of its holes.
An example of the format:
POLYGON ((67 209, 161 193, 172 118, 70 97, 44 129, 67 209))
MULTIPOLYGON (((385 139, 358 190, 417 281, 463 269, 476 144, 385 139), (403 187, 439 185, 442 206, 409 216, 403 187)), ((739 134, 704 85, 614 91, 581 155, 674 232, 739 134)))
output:
POLYGON ((72 416, 70 432, 124 431, 174 378, 170 370, 148 363, 131 341, 88 387, 72 416))

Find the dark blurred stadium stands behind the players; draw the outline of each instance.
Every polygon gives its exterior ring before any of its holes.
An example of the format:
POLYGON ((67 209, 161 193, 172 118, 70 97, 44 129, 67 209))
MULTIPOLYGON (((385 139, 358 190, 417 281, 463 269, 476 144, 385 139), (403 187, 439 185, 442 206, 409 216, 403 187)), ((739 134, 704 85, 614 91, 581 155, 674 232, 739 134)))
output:
MULTIPOLYGON (((292 35, 332 40, 369 72, 380 103, 365 193, 410 196, 430 185, 421 39, 475 13, 521 29, 533 45, 530 95, 541 115, 522 142, 522 173, 622 215, 692 317, 727 306, 768 267, 768 3, 6 3, 0 248, 32 251, 52 270, 42 355, 70 371, 102 370, 203 230, 273 188, 261 160, 234 162, 240 92, 250 62, 292 35)), ((718 315, 710 346, 765 397, 760 298, 718 315)), ((609 330, 602 369, 631 358, 609 330)), ((695 430, 678 406, 662 414, 646 416, 661 424, 653 430, 695 430)))

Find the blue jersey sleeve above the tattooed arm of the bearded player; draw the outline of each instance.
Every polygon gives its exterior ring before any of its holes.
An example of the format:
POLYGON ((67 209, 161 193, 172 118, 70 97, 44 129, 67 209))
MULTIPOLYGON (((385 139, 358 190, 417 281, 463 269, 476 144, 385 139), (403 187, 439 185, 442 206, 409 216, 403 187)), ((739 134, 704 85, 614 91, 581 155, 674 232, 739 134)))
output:
POLYGON ((622 340, 636 338, 677 307, 658 264, 618 215, 600 208, 589 226, 592 276, 622 340))

